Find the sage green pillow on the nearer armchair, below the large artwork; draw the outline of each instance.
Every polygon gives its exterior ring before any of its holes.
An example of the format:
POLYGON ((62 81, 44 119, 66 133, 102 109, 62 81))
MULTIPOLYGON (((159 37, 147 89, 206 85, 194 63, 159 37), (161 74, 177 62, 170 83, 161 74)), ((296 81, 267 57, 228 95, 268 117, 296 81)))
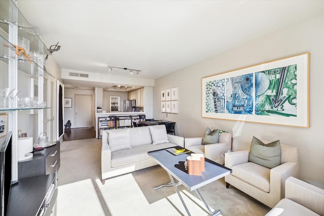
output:
POLYGON ((280 141, 277 140, 272 143, 264 144, 261 140, 253 136, 249 154, 249 161, 270 169, 280 165, 280 141))

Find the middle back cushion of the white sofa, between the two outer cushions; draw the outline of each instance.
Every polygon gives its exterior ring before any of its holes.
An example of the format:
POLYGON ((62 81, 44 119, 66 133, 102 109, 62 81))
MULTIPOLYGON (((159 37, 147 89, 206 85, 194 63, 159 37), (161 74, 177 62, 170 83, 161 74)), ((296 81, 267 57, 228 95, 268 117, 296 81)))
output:
POLYGON ((149 127, 130 128, 131 147, 152 144, 149 127))

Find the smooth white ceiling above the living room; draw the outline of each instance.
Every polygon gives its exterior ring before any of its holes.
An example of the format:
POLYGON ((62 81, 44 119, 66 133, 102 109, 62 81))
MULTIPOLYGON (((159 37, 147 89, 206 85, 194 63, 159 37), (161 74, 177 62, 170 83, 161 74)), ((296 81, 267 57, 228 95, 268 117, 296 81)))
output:
POLYGON ((18 0, 18 8, 48 48, 59 42, 62 69, 156 79, 321 14, 324 1, 18 0))

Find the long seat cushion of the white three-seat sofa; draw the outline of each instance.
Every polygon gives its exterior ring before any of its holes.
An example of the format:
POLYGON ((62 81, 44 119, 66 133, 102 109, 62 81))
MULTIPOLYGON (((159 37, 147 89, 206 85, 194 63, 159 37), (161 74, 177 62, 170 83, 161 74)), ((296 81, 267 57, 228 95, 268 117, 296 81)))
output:
POLYGON ((151 157, 147 154, 148 151, 154 151, 158 149, 164 148, 172 148, 177 146, 172 143, 162 143, 158 145, 141 145, 135 146, 131 149, 124 149, 120 151, 111 152, 111 167, 127 165, 143 160, 151 159, 151 157))

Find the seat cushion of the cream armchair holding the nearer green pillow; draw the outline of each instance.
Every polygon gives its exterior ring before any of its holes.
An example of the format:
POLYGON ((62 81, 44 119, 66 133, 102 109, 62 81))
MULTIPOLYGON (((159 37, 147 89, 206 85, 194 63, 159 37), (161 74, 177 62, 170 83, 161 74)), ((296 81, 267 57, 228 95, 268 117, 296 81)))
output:
POLYGON ((230 167, 236 178, 259 188, 270 191, 270 169, 253 162, 241 163, 230 167))

